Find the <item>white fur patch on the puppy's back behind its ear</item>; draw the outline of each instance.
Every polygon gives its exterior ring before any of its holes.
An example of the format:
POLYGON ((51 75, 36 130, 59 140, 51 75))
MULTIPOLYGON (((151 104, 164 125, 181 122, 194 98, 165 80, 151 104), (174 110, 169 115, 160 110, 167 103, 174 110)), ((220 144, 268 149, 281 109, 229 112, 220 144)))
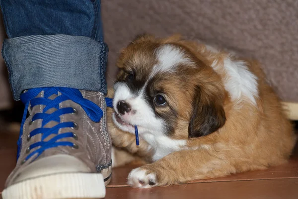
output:
MULTIPOLYGON (((218 60, 214 61, 212 67, 218 71, 218 60)), ((243 97, 256 105, 258 97, 257 77, 252 74, 245 62, 232 61, 230 57, 224 59, 224 70, 226 77, 224 79, 224 88, 229 93, 231 100, 237 102, 243 97)))

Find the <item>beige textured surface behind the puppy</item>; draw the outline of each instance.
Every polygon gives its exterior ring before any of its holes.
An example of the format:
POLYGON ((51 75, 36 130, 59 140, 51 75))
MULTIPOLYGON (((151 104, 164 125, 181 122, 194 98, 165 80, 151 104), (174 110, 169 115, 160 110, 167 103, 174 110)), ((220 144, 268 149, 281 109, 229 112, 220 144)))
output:
POLYGON ((135 35, 182 33, 255 57, 282 100, 298 102, 298 0, 102 0, 102 18, 109 85, 135 35))

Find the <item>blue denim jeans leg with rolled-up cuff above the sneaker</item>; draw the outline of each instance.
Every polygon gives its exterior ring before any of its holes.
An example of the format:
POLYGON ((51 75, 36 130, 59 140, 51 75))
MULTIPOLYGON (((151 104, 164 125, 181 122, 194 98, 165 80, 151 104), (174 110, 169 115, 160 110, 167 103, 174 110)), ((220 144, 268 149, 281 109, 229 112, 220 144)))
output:
POLYGON ((2 57, 15 100, 39 87, 106 94, 100 0, 0 0, 0 7, 8 36, 2 57))

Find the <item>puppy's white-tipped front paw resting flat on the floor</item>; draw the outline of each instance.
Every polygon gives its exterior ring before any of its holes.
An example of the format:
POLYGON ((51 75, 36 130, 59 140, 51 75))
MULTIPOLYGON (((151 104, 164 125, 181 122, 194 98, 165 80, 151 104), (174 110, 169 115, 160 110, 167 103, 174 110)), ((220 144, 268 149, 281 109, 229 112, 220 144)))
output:
POLYGON ((151 188, 157 186, 156 174, 145 168, 133 169, 128 175, 128 182, 132 187, 151 188))

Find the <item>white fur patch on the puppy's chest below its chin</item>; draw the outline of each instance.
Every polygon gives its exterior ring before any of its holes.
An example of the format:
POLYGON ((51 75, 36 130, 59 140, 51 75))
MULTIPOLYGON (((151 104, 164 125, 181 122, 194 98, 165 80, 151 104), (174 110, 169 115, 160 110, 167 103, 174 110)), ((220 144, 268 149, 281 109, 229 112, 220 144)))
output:
POLYGON ((143 133, 142 138, 146 140, 154 149, 153 161, 159 160, 164 156, 184 149, 186 140, 174 140, 166 135, 153 135, 151 133, 143 133))

